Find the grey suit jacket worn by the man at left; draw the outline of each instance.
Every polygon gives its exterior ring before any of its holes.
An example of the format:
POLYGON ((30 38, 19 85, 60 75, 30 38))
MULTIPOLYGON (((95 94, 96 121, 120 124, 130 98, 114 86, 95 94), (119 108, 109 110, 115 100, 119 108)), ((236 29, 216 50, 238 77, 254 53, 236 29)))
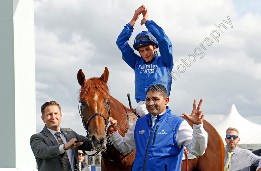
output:
MULTIPOLYGON (((60 127, 61 128, 61 127, 60 127)), ((66 137, 67 141, 72 138, 83 138, 84 136, 78 135, 70 128, 61 128, 62 134, 66 137)), ((82 141, 83 145, 72 148, 74 156, 75 170, 79 170, 78 165, 78 150, 92 151, 92 146, 88 139, 82 141)), ((36 163, 39 171, 62 171, 62 155, 59 155, 59 144, 52 133, 47 129, 46 125, 43 130, 34 134, 30 138, 30 145, 33 150, 36 163)))

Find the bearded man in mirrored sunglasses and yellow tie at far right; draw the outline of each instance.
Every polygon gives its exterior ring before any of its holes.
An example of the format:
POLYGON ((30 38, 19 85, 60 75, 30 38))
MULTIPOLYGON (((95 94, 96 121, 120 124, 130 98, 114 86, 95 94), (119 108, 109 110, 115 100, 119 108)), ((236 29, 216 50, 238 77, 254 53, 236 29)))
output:
POLYGON ((238 130, 229 127, 226 131, 224 171, 249 171, 251 165, 258 166, 261 157, 254 155, 250 150, 238 148, 240 141, 238 130))

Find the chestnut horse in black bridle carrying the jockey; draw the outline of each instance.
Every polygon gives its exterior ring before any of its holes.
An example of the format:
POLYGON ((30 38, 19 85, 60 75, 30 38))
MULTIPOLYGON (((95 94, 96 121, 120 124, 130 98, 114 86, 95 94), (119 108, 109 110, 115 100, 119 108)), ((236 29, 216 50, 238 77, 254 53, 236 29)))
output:
MULTIPOLYGON (((85 129, 89 133, 87 137, 90 138, 94 150, 101 151, 102 170, 131 170, 135 151, 127 157, 119 155, 118 151, 107 139, 107 127, 110 124, 108 115, 117 120, 118 131, 121 136, 125 135, 137 117, 131 112, 131 109, 126 108, 117 99, 109 95, 108 76, 109 71, 105 67, 101 77, 89 78, 86 81, 84 73, 81 69, 79 70, 77 78, 81 85, 79 90, 81 117, 85 129)), ((186 117, 183 118, 186 119, 186 117)), ((189 122, 189 124, 192 127, 192 123, 189 122)), ((188 171, 221 171, 224 167, 225 154, 223 141, 215 128, 205 120, 204 129, 208 132, 207 149, 202 156, 188 160, 188 171)), ((181 171, 185 170, 186 160, 183 160, 181 171)))

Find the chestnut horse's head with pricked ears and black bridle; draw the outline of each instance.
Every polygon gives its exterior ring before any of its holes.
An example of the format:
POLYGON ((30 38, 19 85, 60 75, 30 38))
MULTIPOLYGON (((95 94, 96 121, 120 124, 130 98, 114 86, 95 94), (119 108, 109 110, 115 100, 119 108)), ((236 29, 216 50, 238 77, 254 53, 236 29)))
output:
POLYGON ((90 133, 96 151, 104 150, 107 142, 105 127, 109 113, 108 76, 107 67, 105 67, 101 77, 89 78, 87 81, 81 69, 77 74, 78 82, 81 85, 79 98, 83 125, 90 133))

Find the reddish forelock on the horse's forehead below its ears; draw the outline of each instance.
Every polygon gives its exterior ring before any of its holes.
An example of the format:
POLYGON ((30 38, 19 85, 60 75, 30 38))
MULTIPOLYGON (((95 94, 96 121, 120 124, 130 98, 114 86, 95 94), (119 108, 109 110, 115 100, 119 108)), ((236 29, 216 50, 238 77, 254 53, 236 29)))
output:
POLYGON ((85 84, 79 90, 80 99, 84 99, 90 92, 95 92, 97 95, 108 96, 110 90, 107 84, 104 84, 103 81, 98 77, 89 78, 85 84))

